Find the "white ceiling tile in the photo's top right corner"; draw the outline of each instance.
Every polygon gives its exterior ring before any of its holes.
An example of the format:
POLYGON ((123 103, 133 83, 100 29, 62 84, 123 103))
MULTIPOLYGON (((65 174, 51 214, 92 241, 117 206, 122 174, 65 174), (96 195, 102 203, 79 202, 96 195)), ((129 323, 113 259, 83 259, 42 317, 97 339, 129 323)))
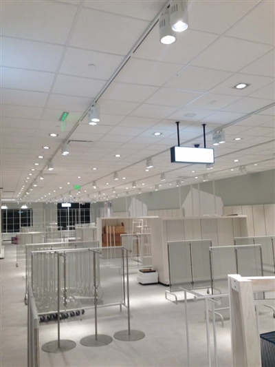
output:
MULTIPOLYGON (((239 3, 238 3, 239 6, 239 3)), ((226 34, 261 43, 275 44, 275 3, 261 1, 240 22, 236 23, 226 34)))

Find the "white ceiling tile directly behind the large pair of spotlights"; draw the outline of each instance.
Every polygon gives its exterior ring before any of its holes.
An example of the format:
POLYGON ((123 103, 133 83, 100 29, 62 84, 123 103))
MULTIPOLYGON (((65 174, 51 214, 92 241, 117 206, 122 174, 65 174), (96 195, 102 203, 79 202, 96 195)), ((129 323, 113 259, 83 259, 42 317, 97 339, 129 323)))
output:
POLYGON ((164 45, 159 42, 159 26, 157 24, 151 31, 151 36, 146 37, 142 45, 137 48, 134 57, 186 65, 215 39, 217 39, 216 34, 188 30, 188 32, 178 33, 175 43, 164 45))

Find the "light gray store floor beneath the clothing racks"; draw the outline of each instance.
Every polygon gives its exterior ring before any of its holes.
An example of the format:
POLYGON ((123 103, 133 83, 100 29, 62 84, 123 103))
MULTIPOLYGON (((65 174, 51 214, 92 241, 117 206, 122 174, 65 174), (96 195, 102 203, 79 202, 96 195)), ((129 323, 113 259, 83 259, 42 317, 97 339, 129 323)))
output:
MULTIPOLYGON (((16 245, 5 244, 5 259, 1 269, 1 367, 27 366, 27 306, 23 262, 17 268, 16 245)), ((41 367, 86 366, 187 366, 184 304, 173 304, 165 299, 167 287, 160 284, 142 286, 131 280, 131 328, 143 331, 145 338, 137 342, 113 339, 107 346, 89 348, 80 339, 94 334, 94 311, 83 317, 72 317, 61 322, 61 339, 72 339, 76 348, 66 353, 45 353, 41 350, 41 367)), ((190 366, 208 366, 206 324, 203 302, 188 302, 190 327, 190 366)), ((226 313, 225 313, 226 316, 226 313)), ((261 307, 261 332, 274 331, 272 311, 261 307)), ((126 309, 118 306, 98 310, 98 333, 113 337, 126 329, 126 309)), ((212 324, 211 324, 212 326, 212 324)), ((218 365, 231 366, 229 319, 225 327, 217 322, 218 365)), ((55 322, 40 324, 40 346, 57 338, 55 322)), ((214 364, 213 364, 214 366, 214 364)))

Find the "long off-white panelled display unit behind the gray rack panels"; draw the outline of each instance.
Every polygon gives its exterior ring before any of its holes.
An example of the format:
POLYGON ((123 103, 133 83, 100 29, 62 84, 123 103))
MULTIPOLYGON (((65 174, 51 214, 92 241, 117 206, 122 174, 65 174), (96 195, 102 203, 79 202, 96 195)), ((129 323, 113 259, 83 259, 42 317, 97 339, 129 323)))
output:
POLYGON ((168 241, 211 239, 212 246, 228 246, 234 245, 234 237, 248 233, 246 216, 151 218, 147 222, 151 227, 153 269, 165 285, 169 284, 168 241))

